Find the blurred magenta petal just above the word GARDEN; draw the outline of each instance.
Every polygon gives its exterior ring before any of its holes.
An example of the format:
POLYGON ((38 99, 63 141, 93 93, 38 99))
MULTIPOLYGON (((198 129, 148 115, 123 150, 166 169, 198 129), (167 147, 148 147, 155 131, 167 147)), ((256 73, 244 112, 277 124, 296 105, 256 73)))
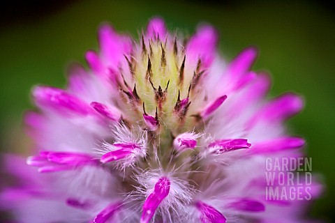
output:
POLYGON ((283 137, 255 143, 251 153, 274 153, 291 148, 301 148, 305 141, 299 137, 283 137))

